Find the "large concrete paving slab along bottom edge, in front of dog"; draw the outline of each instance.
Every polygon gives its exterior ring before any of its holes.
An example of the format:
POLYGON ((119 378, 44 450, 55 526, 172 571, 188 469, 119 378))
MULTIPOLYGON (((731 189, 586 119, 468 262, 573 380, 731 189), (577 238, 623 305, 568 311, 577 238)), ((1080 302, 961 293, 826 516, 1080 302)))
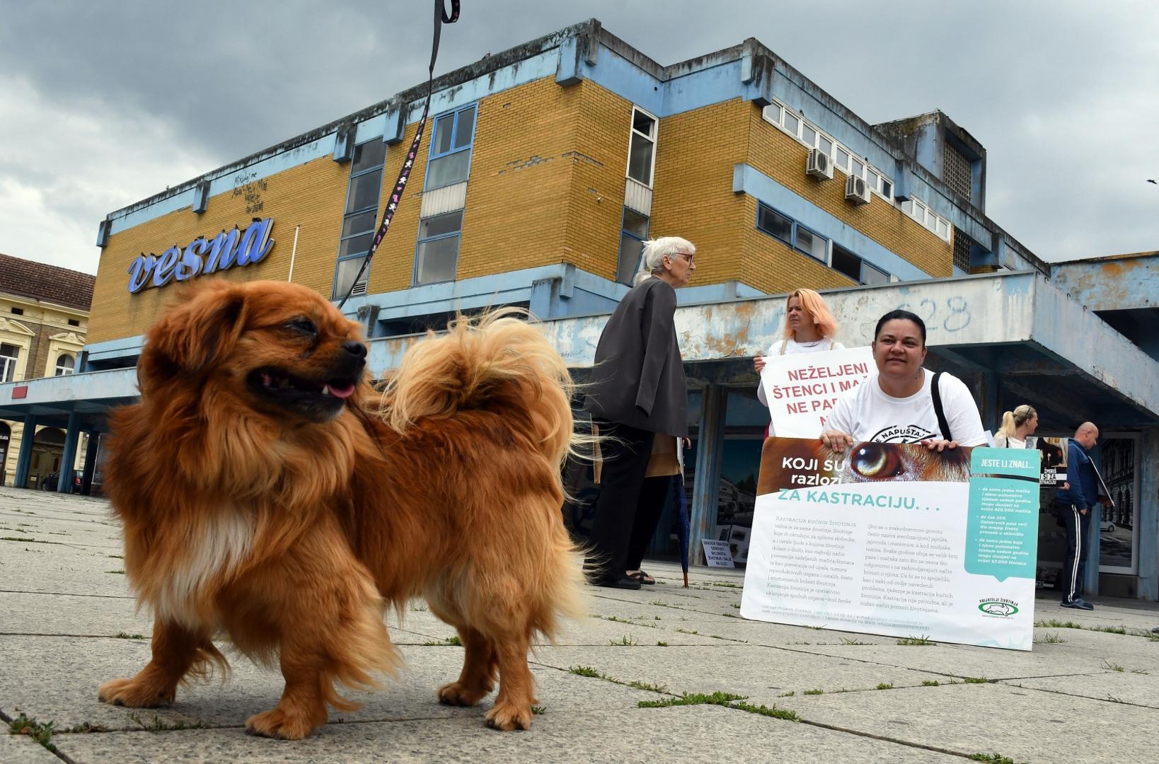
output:
POLYGON ((532 728, 498 733, 471 720, 329 725, 304 741, 241 730, 61 735, 78 763, 241 762, 708 762, 792 761, 950 764, 960 757, 719 706, 546 713, 532 728), (722 734, 722 730, 728 730, 722 734))

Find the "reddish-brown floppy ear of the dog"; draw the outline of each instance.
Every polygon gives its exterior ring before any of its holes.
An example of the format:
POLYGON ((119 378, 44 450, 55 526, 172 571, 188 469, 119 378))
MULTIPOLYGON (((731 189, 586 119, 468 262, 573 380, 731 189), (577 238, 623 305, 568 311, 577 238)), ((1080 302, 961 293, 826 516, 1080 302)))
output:
POLYGON ((224 279, 189 290, 146 335, 138 383, 199 374, 228 352, 246 327, 246 292, 224 279))

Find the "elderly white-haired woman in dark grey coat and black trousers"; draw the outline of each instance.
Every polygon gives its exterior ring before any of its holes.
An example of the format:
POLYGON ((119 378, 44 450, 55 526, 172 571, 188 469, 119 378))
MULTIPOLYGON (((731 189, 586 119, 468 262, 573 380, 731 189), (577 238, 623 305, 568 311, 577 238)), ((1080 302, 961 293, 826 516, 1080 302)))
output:
POLYGON ((697 248, 677 237, 644 243, 635 285, 607 320, 584 408, 603 441, 603 475, 591 531, 592 582, 639 589, 639 569, 659 521, 664 494, 646 490, 655 449, 688 434, 688 388, 677 343, 676 290, 697 270, 697 248))

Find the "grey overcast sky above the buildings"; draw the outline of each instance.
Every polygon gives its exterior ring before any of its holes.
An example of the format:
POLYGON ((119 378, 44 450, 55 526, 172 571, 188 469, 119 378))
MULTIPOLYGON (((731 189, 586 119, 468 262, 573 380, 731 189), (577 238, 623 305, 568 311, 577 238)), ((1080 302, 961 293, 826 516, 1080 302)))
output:
MULTIPOLYGON (((430 16, 0 0, 0 252, 96 272, 108 212, 424 80, 430 16)), ((987 214, 1043 260, 1159 249, 1154 0, 462 0, 436 74, 589 17, 665 65, 757 37, 870 123, 941 109, 989 152, 987 214)))

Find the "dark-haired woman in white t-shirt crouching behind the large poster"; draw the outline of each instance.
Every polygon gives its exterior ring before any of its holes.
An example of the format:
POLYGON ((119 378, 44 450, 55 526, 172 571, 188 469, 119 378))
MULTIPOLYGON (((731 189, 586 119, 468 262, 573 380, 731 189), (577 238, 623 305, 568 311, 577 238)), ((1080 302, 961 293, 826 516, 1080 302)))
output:
POLYGON ((942 451, 985 445, 982 416, 961 379, 942 373, 938 391, 945 424, 934 407, 934 373, 926 359, 926 325, 909 311, 881 316, 874 330, 877 373, 838 399, 821 435, 825 445, 844 451, 855 443, 925 443, 942 451), (948 431, 947 431, 948 430, 948 431))

